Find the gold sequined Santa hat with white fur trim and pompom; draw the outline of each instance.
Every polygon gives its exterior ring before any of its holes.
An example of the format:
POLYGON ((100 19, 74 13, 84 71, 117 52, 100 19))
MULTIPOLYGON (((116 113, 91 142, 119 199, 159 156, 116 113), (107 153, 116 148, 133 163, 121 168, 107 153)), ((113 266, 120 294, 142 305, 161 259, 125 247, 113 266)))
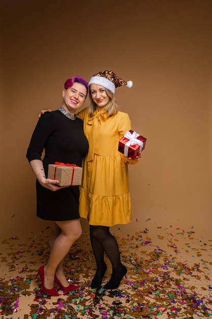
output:
POLYGON ((115 93, 115 88, 118 88, 122 85, 126 85, 128 88, 133 86, 132 81, 124 81, 122 78, 115 75, 111 70, 100 71, 90 78, 88 86, 90 84, 102 85, 104 88, 110 90, 113 94, 115 93))

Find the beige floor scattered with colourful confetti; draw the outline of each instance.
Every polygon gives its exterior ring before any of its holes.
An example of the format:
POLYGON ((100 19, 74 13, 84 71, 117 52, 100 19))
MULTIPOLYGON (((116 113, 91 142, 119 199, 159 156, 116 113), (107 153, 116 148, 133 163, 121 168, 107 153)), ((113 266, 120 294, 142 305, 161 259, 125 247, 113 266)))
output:
MULTIPOLYGON (((144 229, 116 236, 127 278, 119 289, 90 289, 95 262, 84 233, 66 258, 66 273, 80 289, 42 294, 40 265, 48 255, 49 229, 1 243, 0 319, 212 318, 212 237, 183 229, 144 229)), ((109 279, 111 268, 104 282, 109 279)), ((58 288, 58 287, 57 287, 58 288)))

